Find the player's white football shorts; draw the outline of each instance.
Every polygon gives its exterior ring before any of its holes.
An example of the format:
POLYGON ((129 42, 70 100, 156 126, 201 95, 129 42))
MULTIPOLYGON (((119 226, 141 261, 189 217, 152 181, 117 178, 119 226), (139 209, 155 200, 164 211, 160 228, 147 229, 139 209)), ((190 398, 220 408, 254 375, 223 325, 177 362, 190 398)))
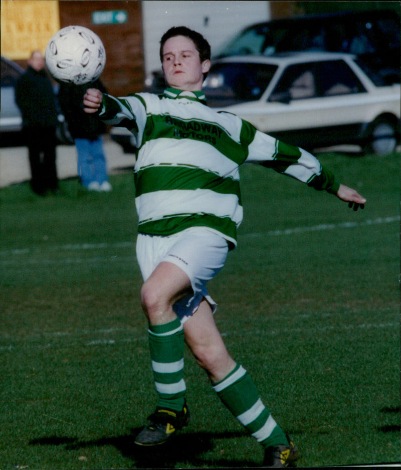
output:
POLYGON ((191 227, 169 236, 139 233, 136 241, 136 257, 144 281, 162 261, 175 264, 189 277, 193 293, 173 305, 182 323, 197 310, 203 298, 216 311, 217 304, 206 284, 222 269, 227 253, 227 241, 207 227, 191 227))

